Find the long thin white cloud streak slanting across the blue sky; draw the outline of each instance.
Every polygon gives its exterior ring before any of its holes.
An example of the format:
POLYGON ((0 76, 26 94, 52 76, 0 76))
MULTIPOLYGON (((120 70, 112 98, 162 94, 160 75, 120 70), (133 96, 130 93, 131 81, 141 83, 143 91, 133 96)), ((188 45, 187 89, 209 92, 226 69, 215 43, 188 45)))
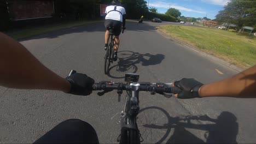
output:
POLYGON ((206 14, 205 11, 199 11, 199 10, 195 10, 195 9, 189 9, 189 8, 185 8, 182 6, 179 6, 177 4, 170 4, 170 3, 166 3, 166 2, 153 2, 153 3, 149 3, 150 7, 156 7, 156 8, 176 8, 179 10, 184 10, 184 11, 189 11, 189 12, 195 12, 195 13, 200 13, 200 14, 206 14))

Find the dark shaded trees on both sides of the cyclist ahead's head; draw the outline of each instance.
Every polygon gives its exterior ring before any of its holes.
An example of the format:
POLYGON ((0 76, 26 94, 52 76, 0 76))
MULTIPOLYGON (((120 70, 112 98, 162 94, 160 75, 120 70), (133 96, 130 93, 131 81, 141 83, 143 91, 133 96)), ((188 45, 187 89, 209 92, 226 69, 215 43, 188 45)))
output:
MULTIPOLYGON (((112 0, 55 0, 56 15, 63 14, 68 17, 78 15, 85 18, 100 17, 100 4, 110 4, 112 0)), ((175 21, 176 16, 171 14, 158 14, 156 8, 148 8, 145 0, 120 0, 126 10, 127 19, 139 19, 142 15, 146 19, 159 17, 164 21, 175 21)))

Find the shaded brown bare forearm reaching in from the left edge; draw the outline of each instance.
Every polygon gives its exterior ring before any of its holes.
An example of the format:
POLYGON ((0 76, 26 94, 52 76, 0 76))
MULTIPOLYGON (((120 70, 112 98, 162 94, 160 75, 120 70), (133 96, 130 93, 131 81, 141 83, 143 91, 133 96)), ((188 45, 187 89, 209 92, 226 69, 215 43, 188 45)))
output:
POLYGON ((68 81, 46 68, 18 41, 0 33, 0 45, 1 86, 69 91, 68 81))

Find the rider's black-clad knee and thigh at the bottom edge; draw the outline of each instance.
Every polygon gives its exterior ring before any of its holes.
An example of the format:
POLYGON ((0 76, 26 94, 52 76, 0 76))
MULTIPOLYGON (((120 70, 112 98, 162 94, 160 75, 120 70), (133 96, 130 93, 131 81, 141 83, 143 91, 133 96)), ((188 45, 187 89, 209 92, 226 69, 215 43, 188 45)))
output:
POLYGON ((34 143, 99 143, 95 129, 79 119, 56 125, 34 143))

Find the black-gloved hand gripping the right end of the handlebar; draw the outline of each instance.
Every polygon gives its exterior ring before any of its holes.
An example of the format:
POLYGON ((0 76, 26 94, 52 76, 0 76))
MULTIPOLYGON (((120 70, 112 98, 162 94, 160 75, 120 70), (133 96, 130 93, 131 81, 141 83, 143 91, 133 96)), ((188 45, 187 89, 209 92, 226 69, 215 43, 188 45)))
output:
POLYGON ((191 98, 201 98, 199 95, 199 88, 203 84, 195 79, 185 79, 180 81, 175 81, 173 87, 178 87, 181 92, 175 96, 179 99, 191 99, 191 98))

